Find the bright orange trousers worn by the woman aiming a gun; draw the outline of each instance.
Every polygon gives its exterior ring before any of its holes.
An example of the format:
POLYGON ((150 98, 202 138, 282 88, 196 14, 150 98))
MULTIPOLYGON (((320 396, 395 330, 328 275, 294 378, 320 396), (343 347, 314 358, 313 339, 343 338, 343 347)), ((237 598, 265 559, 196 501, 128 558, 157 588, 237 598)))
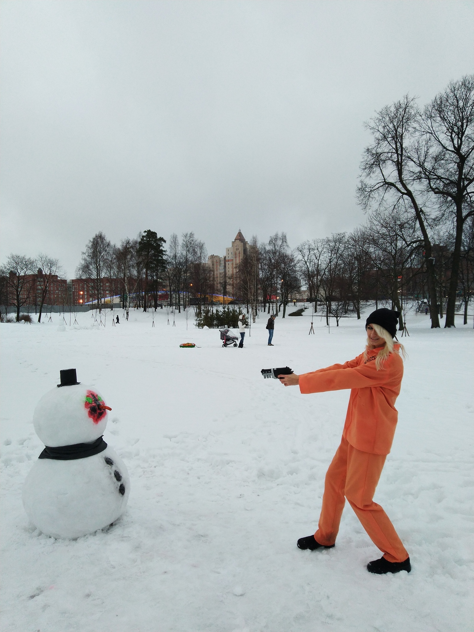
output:
POLYGON ((387 561, 406 560, 408 553, 389 517, 380 505, 372 501, 385 459, 385 454, 356 450, 343 437, 324 482, 319 528, 314 534, 319 544, 336 542, 347 498, 368 536, 387 561))

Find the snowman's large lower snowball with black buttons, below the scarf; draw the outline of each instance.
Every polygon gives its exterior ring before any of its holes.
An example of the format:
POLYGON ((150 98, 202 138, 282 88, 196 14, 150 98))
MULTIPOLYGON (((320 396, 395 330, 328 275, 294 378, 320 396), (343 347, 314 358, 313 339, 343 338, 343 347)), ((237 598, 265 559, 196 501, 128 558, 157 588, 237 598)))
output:
POLYGON ((107 446, 85 459, 37 459, 23 486, 23 506, 46 535, 78 538, 117 520, 129 492, 125 464, 107 446))

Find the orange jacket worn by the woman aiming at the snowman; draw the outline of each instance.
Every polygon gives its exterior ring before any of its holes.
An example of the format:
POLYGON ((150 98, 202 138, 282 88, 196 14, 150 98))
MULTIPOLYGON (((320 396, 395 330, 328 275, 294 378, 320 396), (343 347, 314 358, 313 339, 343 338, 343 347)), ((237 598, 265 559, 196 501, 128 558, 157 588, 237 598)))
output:
MULTIPOLYGON (((394 348, 398 351, 399 345, 394 348)), ((344 364, 300 375, 300 391, 351 389, 343 437, 362 452, 388 454, 398 420, 394 404, 400 392, 403 362, 398 353, 391 353, 377 371, 375 358, 379 351, 368 349, 367 361, 362 353, 344 364)))

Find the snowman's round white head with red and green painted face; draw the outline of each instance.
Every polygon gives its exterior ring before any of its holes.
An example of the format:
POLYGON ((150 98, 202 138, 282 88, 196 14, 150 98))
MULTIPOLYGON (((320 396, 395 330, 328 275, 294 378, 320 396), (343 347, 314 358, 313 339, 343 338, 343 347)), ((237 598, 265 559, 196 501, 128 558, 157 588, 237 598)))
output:
POLYGON ((56 387, 35 408, 35 432, 50 447, 95 441, 106 429, 105 406, 102 395, 92 387, 83 384, 56 387))

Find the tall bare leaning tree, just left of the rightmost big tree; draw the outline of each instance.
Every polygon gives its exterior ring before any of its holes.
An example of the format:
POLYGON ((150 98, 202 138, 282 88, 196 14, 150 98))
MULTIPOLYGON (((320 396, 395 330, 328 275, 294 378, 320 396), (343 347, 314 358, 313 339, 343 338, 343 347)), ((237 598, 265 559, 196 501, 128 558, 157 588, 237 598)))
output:
POLYGON ((394 212, 402 208, 416 218, 423 238, 431 326, 439 327, 432 242, 425 205, 428 198, 417 188, 419 172, 415 156, 419 121, 415 99, 406 95, 391 106, 382 107, 366 124, 374 142, 364 150, 357 196, 365 210, 391 209, 394 212))

